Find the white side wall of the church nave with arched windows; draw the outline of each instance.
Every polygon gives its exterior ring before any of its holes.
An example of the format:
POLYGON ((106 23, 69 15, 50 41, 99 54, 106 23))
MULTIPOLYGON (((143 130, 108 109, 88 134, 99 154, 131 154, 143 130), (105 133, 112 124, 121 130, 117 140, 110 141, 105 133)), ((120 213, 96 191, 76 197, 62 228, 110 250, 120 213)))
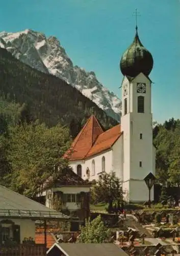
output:
POLYGON ((90 178, 89 180, 98 180, 99 175, 102 172, 102 157, 105 157, 105 171, 107 173, 110 173, 112 170, 112 150, 102 152, 101 154, 95 155, 85 161, 85 165, 83 169, 85 169, 85 173, 83 175, 83 179, 87 178, 86 175, 86 169, 89 168, 90 170, 90 178), (92 161, 94 160, 95 162, 95 174, 93 174, 92 170, 92 161))

